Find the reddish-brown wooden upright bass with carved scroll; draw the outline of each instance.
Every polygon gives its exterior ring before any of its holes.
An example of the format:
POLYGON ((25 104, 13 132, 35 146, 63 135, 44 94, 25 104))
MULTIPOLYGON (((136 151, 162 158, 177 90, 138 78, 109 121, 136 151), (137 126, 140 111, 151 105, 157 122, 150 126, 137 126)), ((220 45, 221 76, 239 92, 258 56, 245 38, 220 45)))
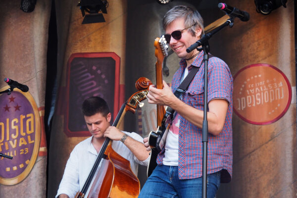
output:
MULTIPOLYGON (((147 78, 138 79, 135 86, 141 91, 134 93, 121 106, 112 126, 118 126, 127 111, 135 113, 138 106, 143 106, 141 101, 147 98, 149 85, 151 82, 147 78)), ((109 138, 105 139, 82 190, 76 194, 75 198, 85 197, 96 172, 98 174, 94 179, 88 198, 138 197, 140 192, 139 180, 132 172, 130 162, 112 149, 111 142, 109 138)))

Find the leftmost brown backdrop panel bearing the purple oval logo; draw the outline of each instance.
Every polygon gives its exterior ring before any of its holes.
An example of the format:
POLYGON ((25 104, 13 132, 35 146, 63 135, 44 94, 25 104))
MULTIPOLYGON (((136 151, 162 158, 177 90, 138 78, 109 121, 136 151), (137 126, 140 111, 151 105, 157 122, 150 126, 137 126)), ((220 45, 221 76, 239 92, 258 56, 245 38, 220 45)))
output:
POLYGON ((45 198, 47 143, 44 106, 50 0, 38 0, 33 12, 19 0, 1 0, 0 91, 8 77, 29 87, 0 95, 1 198, 45 198))

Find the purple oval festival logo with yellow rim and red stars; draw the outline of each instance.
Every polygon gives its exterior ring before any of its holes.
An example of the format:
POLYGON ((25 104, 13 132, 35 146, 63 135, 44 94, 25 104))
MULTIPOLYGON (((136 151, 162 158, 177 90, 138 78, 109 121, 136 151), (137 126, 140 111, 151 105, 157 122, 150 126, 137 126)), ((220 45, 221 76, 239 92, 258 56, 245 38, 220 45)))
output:
POLYGON ((0 157, 0 184, 15 185, 29 175, 38 156, 40 115, 31 94, 18 89, 0 95, 0 115, 0 153, 13 157, 0 157))

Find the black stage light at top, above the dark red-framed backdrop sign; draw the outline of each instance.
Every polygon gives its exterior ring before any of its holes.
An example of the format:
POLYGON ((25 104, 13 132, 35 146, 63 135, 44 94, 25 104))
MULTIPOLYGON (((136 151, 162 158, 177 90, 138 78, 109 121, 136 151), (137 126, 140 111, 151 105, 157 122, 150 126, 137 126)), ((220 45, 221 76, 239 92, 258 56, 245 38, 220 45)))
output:
POLYGON ((85 16, 82 24, 105 22, 102 13, 107 14, 107 0, 80 0, 77 6, 80 6, 82 15, 85 16))

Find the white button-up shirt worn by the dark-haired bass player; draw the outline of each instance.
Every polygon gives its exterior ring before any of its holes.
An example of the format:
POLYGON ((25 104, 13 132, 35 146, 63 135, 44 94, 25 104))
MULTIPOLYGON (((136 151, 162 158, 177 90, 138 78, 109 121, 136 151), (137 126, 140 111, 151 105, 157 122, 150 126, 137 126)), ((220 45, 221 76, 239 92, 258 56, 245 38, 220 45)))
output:
MULTIPOLYGON (((137 133, 123 132, 134 140, 143 142, 143 138, 137 133)), ((93 136, 77 144, 70 153, 56 198, 61 194, 66 194, 69 198, 74 198, 76 193, 83 188, 98 156, 92 144, 92 138, 93 136)), ((122 157, 130 161, 131 169, 135 175, 137 175, 138 172, 138 164, 148 166, 149 157, 145 161, 140 161, 122 142, 113 141, 112 148, 122 157)), ((95 177, 93 179, 95 179, 95 177)), ((85 197, 88 197, 92 183, 85 197)))

